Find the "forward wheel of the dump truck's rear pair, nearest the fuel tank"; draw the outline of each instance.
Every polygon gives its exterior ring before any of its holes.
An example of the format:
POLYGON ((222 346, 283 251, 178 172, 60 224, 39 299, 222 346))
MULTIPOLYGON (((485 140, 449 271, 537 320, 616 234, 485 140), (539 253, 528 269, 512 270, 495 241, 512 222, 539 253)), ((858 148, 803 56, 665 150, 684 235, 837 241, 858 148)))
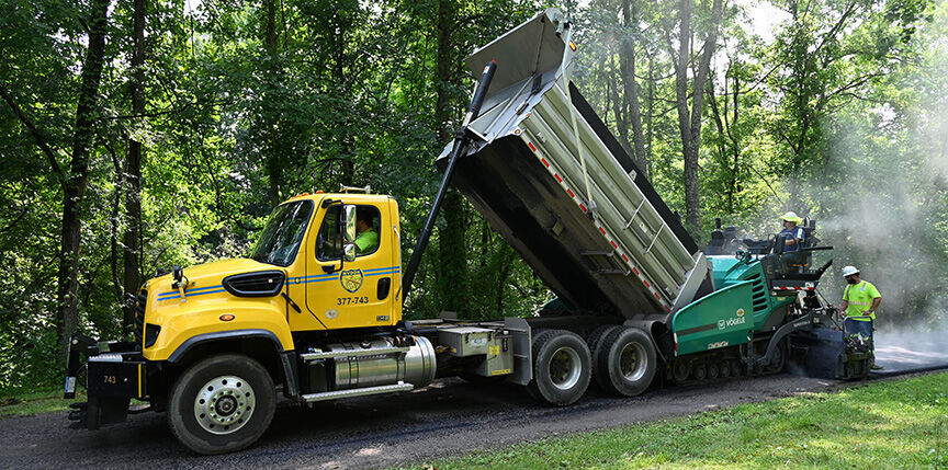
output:
POLYGON ((533 339, 530 394, 552 405, 573 404, 589 387, 589 347, 576 333, 548 330, 533 339))

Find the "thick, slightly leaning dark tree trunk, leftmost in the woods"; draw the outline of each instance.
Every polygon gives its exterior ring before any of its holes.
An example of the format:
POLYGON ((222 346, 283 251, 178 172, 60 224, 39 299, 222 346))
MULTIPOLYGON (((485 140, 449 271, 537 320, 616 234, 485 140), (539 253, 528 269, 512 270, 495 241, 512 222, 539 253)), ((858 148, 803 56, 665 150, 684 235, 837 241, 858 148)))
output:
POLYGON ((93 0, 89 14, 89 47, 82 64, 79 100, 76 105, 76 127, 72 134, 72 161, 63 184, 63 231, 60 233, 59 282, 56 302, 59 341, 66 352, 69 337, 76 331, 79 291, 79 249, 82 231, 82 199, 89 180, 89 147, 95 122, 99 82, 105 55, 106 15, 110 0, 93 0))

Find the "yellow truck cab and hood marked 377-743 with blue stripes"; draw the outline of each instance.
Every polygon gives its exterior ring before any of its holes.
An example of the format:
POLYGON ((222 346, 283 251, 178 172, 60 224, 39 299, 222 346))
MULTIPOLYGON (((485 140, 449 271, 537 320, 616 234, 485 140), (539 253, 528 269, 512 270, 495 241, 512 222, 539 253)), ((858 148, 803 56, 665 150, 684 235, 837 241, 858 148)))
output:
POLYGON ((402 319, 397 247, 398 204, 388 196, 291 198, 273 210, 247 259, 191 266, 145 284, 137 309, 143 356, 177 359, 202 334, 267 331, 292 351, 297 332, 392 326, 402 319), (346 213, 363 217, 361 223, 350 220, 356 232, 348 241, 346 213), (376 234, 363 249, 354 243, 358 226, 376 234))

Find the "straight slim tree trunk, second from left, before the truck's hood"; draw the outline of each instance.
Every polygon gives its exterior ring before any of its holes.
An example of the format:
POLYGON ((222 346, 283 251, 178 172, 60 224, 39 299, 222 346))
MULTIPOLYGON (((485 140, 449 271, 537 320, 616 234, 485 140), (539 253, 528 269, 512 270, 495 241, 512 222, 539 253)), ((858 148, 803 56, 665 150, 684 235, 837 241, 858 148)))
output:
MULTIPOLYGON (((133 50, 132 50, 132 114, 135 123, 140 125, 145 113, 145 99, 143 88, 145 83, 145 0, 135 0, 133 12, 133 50)), ((128 301, 128 295, 134 296, 142 283, 142 142, 135 138, 133 133, 128 139, 128 152, 126 157, 126 179, 128 183, 125 193, 125 222, 128 225, 124 237, 124 293, 123 311, 125 312, 124 326, 131 328, 135 319, 135 305, 128 301)))

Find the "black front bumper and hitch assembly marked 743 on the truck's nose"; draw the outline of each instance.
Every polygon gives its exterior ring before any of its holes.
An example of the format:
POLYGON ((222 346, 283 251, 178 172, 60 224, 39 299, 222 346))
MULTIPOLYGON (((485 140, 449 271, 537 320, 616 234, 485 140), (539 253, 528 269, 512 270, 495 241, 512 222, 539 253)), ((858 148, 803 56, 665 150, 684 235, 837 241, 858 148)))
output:
POLYGON ((80 377, 84 378, 88 400, 72 403, 71 427, 98 429, 102 425, 121 423, 128 415, 131 400, 147 397, 148 362, 139 346, 128 342, 95 342, 72 335, 66 364, 64 398, 76 398, 80 377), (82 360, 82 356, 86 360, 82 360))

